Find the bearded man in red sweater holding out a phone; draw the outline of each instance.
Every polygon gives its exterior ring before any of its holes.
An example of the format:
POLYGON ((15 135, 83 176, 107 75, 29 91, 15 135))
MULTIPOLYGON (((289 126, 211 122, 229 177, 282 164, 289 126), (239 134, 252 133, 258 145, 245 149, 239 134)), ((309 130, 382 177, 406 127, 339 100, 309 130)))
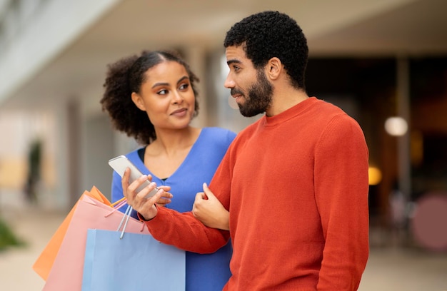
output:
MULTIPOLYGON (((307 96, 306 38, 286 14, 246 17, 224 46, 225 86, 241 114, 266 113, 238 134, 204 186, 230 215, 232 276, 224 290, 356 290, 368 259, 361 128, 340 108, 307 96)), ((128 187, 125 175, 123 188, 154 238, 192 252, 227 242, 228 231, 207 228, 192 213, 157 208, 161 190, 144 199, 155 185, 135 193, 146 178, 128 187)))

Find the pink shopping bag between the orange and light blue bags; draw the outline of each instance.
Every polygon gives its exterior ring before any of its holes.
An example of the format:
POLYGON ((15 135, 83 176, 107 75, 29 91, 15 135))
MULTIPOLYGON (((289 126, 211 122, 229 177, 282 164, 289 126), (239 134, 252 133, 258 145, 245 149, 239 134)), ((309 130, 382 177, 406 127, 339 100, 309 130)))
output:
MULTIPOLYGON (((123 217, 124 213, 89 196, 79 200, 43 290, 81 290, 87 230, 117 230, 123 217)), ((144 223, 134 218, 126 223, 126 233, 150 235, 144 223)))

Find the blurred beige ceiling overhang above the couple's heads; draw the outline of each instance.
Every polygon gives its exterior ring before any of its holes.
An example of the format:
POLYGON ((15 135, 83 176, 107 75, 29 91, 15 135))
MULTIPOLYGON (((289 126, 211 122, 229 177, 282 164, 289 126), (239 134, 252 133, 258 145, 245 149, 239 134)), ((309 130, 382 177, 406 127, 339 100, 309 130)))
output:
POLYGON ((313 57, 447 53, 445 0, 124 0, 54 56, 2 107, 44 106, 92 96, 99 109, 107 63, 143 49, 222 48, 233 23, 264 10, 296 19, 313 57))

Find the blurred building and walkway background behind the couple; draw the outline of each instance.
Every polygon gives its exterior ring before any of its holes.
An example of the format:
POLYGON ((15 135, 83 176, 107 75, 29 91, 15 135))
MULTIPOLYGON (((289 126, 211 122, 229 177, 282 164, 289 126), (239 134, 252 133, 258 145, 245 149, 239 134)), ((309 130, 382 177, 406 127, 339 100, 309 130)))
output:
POLYGON ((303 29, 308 95, 365 133, 371 257, 360 290, 447 290, 445 0, 0 0, 0 223, 24 241, 0 245, 2 289, 41 290, 31 265, 64 215, 92 186, 109 197, 107 161, 138 146, 101 111, 107 64, 176 49, 201 79, 195 125, 241 131, 258 117, 230 101, 222 43, 264 10, 303 29))

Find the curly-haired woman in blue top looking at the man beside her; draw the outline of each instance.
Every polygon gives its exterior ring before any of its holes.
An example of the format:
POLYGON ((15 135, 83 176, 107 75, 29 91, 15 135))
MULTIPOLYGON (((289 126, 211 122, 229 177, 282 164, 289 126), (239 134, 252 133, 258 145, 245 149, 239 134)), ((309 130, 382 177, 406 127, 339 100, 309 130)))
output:
MULTIPOLYGON (((192 210, 196 193, 210 182, 236 136, 190 125, 199 110, 198 81, 176 53, 144 51, 109 65, 101 99, 114 128, 144 145, 127 158, 157 185, 170 187, 158 203, 179 212, 192 210)), ((121 177, 114 172, 112 200, 121 198, 121 177)), ((230 243, 209 255, 186 252, 186 290, 222 290, 230 259, 230 243)))

